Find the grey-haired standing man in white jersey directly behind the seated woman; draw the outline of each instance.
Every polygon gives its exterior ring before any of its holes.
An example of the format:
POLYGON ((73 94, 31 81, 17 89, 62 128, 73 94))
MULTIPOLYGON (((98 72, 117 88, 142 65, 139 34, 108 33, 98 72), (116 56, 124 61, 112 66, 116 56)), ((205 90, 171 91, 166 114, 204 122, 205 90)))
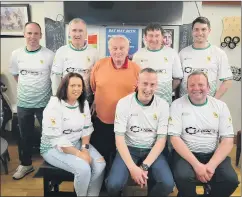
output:
POLYGON ((56 51, 51 74, 53 95, 56 94, 61 79, 67 73, 79 73, 85 81, 87 100, 91 105, 93 93, 90 87, 90 74, 98 59, 98 52, 95 48, 90 48, 86 42, 87 25, 84 20, 74 18, 70 21, 69 37, 71 42, 56 51))

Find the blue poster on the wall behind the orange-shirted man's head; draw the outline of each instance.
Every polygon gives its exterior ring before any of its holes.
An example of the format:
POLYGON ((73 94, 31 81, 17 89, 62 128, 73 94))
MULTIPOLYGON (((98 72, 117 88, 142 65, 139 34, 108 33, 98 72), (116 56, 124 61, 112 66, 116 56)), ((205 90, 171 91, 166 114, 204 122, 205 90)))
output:
POLYGON ((129 58, 138 50, 139 30, 130 28, 106 28, 106 56, 110 56, 108 40, 114 35, 124 35, 129 39, 129 58))

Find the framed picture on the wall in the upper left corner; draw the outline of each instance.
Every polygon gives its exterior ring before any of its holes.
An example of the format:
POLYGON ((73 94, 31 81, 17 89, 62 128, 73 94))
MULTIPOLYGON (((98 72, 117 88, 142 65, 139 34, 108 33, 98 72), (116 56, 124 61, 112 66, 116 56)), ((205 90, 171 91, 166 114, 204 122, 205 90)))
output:
POLYGON ((1 4, 1 37, 23 37, 29 21, 29 4, 1 4))

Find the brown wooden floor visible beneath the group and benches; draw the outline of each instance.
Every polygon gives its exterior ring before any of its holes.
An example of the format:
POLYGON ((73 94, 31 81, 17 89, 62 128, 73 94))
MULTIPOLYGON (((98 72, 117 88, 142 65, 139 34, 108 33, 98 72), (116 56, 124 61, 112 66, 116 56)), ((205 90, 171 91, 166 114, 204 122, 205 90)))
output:
MULTIPOLYGON (((236 145, 235 145, 236 146, 236 145)), ((1 168, 1 196, 43 196, 43 182, 41 178, 33 178, 36 173, 38 167, 42 163, 42 158, 38 154, 33 157, 33 166, 35 167, 35 171, 27 175, 25 178, 21 180, 13 180, 12 175, 15 172, 15 169, 19 165, 18 161, 18 151, 17 146, 15 144, 9 145, 9 154, 11 161, 8 164, 9 174, 5 175, 3 169, 1 168)), ((240 169, 235 167, 235 147, 230 154, 233 162, 233 166, 239 176, 239 180, 241 180, 240 169)), ((63 183, 60 187, 63 191, 73 191, 73 183, 63 183)), ((134 190, 134 189, 132 189, 134 190)), ((202 188, 198 188, 197 192, 201 193, 202 188)), ((140 190, 137 188, 136 192, 132 192, 137 196, 144 196, 145 190, 140 190)), ((175 190, 170 196, 176 196, 177 190, 175 190)), ((232 195, 233 197, 241 196, 241 185, 236 189, 236 191, 232 195)))

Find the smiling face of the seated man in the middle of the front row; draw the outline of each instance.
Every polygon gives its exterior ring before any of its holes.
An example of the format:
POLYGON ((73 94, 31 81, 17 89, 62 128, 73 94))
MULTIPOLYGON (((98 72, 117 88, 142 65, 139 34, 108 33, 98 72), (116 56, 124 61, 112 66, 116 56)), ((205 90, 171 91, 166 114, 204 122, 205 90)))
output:
POLYGON ((157 74, 143 72, 138 79, 138 99, 143 104, 148 104, 157 88, 157 74))

